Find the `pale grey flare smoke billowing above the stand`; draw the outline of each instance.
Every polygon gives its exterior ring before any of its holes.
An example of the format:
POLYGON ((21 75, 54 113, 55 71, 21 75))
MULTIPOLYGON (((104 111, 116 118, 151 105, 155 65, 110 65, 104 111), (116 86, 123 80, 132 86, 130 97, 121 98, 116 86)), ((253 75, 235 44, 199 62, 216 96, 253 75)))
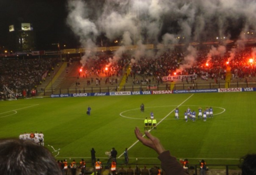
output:
MULTIPOLYGON (((165 45, 177 43, 176 37, 187 42, 239 38, 256 29, 256 0, 68 0, 67 10, 66 22, 85 48, 97 47, 100 35, 121 38, 124 46, 165 45)), ((139 48, 134 62, 148 54, 139 48)), ((85 53, 82 63, 92 56, 85 53)))

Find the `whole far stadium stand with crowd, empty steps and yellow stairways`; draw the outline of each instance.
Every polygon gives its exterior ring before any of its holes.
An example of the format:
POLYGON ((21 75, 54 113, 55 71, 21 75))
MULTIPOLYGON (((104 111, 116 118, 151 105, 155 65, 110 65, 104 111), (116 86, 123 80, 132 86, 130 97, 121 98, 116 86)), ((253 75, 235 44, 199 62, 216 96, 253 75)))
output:
POLYGON ((133 64, 130 64, 133 59, 131 54, 123 54, 117 61, 114 61, 113 55, 102 54, 85 65, 78 60, 58 62, 57 58, 5 59, 0 60, 0 88, 1 91, 3 85, 15 90, 35 88, 41 92, 38 94, 45 95, 45 92, 55 91, 125 91, 133 85, 141 86, 139 90, 149 90, 148 85, 152 85, 152 89, 156 85, 166 85, 166 90, 187 90, 218 88, 219 83, 226 83, 226 87, 238 83, 246 87, 250 82, 255 82, 255 48, 231 48, 221 53, 220 48, 212 47, 196 52, 194 57, 189 51, 156 53, 152 57, 140 57, 133 64), (231 68, 229 74, 227 67, 231 68), (163 76, 175 73, 197 74, 197 78, 175 83, 162 81, 163 76))

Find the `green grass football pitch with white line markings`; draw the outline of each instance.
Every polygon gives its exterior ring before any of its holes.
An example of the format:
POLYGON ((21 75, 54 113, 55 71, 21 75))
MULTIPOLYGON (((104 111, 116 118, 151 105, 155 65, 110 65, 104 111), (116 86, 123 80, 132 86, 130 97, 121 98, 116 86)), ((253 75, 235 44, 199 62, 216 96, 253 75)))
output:
POLYGON ((60 148, 56 159, 90 161, 94 147, 96 157, 106 163, 105 152, 115 147, 118 163, 124 163, 120 155, 128 147, 130 163, 136 163, 136 158, 137 163, 160 163, 153 150, 135 143, 135 127, 143 131, 144 119, 153 111, 159 124, 151 133, 177 159, 187 158, 191 164, 199 159, 208 164, 237 164, 243 155, 256 152, 254 97, 255 92, 232 92, 0 101, 0 138, 42 131, 45 147, 52 152, 52 147, 60 148), (145 113, 140 113, 142 103, 145 113), (90 116, 86 115, 88 105, 90 116), (177 106, 180 120, 174 120, 177 106), (203 122, 196 117, 196 122, 185 122, 187 107, 198 114, 198 108, 206 106, 213 108, 213 119, 203 122))

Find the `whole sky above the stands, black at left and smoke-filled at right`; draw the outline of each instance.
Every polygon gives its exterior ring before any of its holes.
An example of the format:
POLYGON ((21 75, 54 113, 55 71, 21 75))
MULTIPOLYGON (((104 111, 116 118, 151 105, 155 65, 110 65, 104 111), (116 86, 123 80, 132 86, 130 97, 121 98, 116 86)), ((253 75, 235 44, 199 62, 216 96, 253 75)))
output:
POLYGON ((37 50, 238 39, 255 31, 255 12, 256 0, 0 0, 0 46, 21 23, 37 50))

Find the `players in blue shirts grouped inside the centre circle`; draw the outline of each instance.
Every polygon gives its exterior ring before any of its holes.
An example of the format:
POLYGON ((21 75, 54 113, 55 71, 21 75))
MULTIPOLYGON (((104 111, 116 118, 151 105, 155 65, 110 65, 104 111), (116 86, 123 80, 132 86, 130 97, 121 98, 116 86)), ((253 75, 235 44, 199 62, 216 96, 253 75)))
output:
MULTIPOLYGON (((206 118, 213 118, 213 108, 208 108, 206 107, 204 109, 204 111, 202 111, 202 108, 199 107, 198 108, 198 119, 203 119, 204 122, 206 122, 206 118), (203 115, 202 115, 203 113, 203 115)), ((192 120, 193 122, 196 121, 196 112, 193 110, 191 110, 189 107, 187 108, 187 110, 184 112, 184 118, 185 118, 185 121, 187 122, 188 121, 188 118, 190 120, 192 120)), ((175 108, 175 119, 179 119, 179 109, 178 107, 175 108)))

